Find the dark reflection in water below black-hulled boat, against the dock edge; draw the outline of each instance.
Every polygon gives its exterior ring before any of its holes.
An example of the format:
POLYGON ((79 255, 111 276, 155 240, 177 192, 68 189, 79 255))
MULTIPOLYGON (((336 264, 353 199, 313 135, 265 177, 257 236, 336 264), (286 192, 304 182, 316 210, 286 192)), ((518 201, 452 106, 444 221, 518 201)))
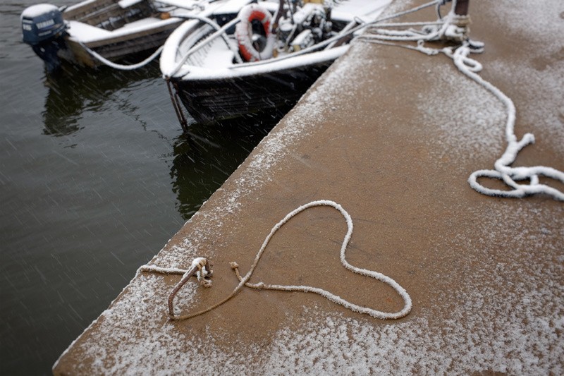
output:
POLYGON ((277 119, 192 124, 173 145, 171 178, 178 211, 188 220, 259 144, 277 119))

